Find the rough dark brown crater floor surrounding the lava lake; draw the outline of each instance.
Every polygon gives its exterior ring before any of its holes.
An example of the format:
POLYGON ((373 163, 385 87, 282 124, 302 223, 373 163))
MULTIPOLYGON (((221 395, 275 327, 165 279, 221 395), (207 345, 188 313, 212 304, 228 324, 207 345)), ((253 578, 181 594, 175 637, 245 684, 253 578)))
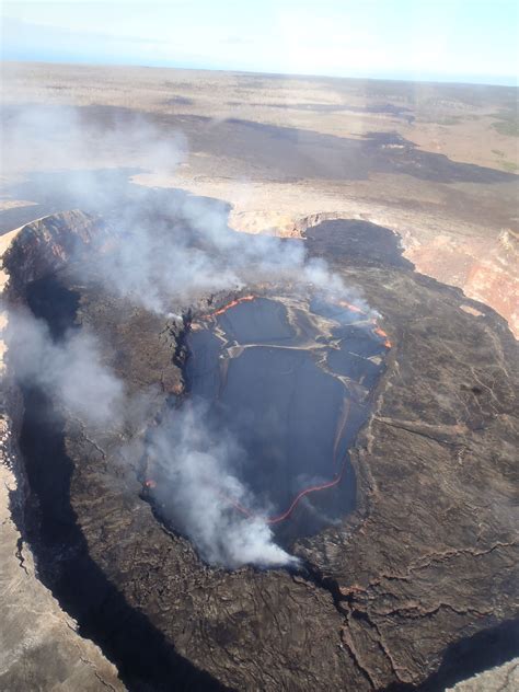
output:
MULTIPOLYGON (((90 220, 78 220, 89 240, 90 220)), ((55 239, 61 221, 50 222, 55 239)), ((42 276, 32 233, 8 260, 21 296, 42 276)), ((351 454, 358 510, 293 546, 303 570, 208 567, 157 520, 142 468, 122 454, 143 451, 146 429, 107 428, 92 440, 45 392, 24 391, 41 578, 129 687, 443 689, 514 654, 514 338, 485 305, 415 274, 385 229, 330 221, 307 235, 309 252, 379 311, 393 348, 351 454), (43 464, 65 478, 59 487, 43 482, 43 464), (58 516, 65 545, 45 531, 58 516)), ((67 253, 56 243, 47 267, 67 253)), ((79 296, 68 319, 102 335, 127 388, 161 383, 150 429, 182 391, 181 331, 66 273, 60 281, 79 296)))

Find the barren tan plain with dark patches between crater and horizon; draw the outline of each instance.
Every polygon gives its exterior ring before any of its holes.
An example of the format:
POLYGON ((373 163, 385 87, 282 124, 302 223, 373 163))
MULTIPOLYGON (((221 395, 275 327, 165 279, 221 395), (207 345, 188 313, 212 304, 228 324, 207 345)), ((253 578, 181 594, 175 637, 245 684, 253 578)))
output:
POLYGON ((34 176, 71 165, 67 131, 45 131, 44 154, 27 138, 14 146, 22 107, 43 108, 44 120, 76 108, 90 168, 146 161, 135 142, 95 147, 138 115, 177 135, 183 153, 171 171, 145 165, 132 181, 226 200, 231 227, 252 233, 298 235, 331 217, 380 223, 418 270, 486 302, 519 334, 514 88, 4 64, 2 89, 2 231, 61 210, 34 176))

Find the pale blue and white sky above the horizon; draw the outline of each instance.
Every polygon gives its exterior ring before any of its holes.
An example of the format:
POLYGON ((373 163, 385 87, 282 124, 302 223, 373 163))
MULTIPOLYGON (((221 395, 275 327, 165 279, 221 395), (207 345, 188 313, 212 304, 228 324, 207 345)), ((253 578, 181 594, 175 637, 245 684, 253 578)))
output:
POLYGON ((515 0, 4 0, 2 59, 517 84, 515 0))

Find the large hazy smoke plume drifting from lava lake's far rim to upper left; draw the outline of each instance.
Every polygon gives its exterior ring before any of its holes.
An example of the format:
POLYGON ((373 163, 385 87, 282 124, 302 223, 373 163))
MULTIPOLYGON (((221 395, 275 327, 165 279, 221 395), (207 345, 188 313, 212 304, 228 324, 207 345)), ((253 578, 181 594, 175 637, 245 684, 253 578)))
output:
POLYGON ((4 171, 33 172, 23 194, 109 219, 115 250, 97 247, 95 265, 119 296, 164 314, 172 301, 284 278, 346 297, 302 241, 233 232, 224 204, 130 183, 137 171, 172 175, 187 148, 178 130, 124 108, 30 105, 2 118, 4 171))

